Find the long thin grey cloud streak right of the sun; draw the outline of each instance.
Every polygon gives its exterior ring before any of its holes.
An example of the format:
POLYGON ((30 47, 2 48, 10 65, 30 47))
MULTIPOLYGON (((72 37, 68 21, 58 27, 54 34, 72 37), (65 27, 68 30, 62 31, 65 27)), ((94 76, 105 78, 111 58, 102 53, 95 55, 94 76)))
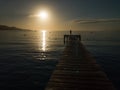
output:
POLYGON ((114 22, 120 22, 120 18, 117 18, 117 19, 77 19, 77 20, 74 20, 73 22, 80 23, 80 24, 114 23, 114 22))

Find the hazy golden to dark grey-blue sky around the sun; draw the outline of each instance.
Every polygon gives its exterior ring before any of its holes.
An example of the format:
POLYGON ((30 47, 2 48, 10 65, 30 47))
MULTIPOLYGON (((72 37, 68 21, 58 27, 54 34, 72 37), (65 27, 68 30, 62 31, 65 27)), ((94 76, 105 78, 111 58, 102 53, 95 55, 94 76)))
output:
POLYGON ((120 0, 0 0, 0 24, 31 30, 120 30, 120 0), (46 11, 48 18, 36 15, 46 11))

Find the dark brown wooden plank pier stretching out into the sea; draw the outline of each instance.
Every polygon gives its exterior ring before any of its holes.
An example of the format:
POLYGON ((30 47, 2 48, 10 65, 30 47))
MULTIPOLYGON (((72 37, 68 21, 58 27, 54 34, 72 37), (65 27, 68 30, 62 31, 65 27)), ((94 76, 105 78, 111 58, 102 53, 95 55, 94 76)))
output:
POLYGON ((64 37, 66 47, 45 90, 115 90, 112 82, 80 42, 81 37, 64 37))

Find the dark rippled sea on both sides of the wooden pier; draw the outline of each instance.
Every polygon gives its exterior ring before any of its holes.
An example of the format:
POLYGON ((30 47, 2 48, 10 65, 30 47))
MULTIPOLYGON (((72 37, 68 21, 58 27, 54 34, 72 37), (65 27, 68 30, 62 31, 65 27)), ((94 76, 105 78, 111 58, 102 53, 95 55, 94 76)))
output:
MULTIPOLYGON (((0 90, 44 90, 69 30, 1 30, 0 90)), ((73 31, 120 90, 120 31, 73 31)), ((62 90, 62 89, 61 89, 62 90)))

